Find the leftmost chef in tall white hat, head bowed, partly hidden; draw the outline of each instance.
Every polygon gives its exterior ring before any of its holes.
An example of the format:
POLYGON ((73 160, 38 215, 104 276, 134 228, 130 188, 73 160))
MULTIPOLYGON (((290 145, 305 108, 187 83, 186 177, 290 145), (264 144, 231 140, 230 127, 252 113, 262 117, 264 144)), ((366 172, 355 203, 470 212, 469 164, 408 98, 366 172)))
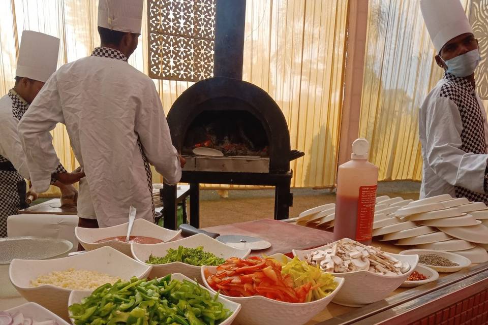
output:
MULTIPOLYGON (((0 237, 7 237, 7 217, 26 207, 26 197, 37 197, 32 189, 26 193, 24 179, 31 177, 17 125, 44 83, 56 70, 58 52, 58 38, 24 30, 20 40, 15 85, 0 99, 0 237)), ((57 173, 70 173, 60 164, 53 166, 51 172, 54 177, 49 176, 48 185, 53 184, 60 188, 62 202, 76 202, 76 189, 57 180, 57 173)), ((72 182, 75 181, 77 179, 72 182)))

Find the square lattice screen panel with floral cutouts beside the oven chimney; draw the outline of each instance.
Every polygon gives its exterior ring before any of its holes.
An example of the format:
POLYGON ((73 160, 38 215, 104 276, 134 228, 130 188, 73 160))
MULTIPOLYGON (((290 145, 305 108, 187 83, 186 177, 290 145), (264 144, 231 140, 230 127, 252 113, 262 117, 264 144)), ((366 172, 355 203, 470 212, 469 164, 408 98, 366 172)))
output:
POLYGON ((149 77, 214 75, 216 0, 148 0, 149 77))

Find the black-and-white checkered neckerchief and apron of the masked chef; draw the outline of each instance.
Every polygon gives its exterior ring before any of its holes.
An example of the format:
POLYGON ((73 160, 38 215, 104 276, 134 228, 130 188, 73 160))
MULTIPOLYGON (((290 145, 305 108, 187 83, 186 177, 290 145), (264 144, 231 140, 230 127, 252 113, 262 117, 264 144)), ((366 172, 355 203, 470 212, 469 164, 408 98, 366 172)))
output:
MULTIPOLYGON (((484 137, 484 111, 479 107, 473 85, 466 79, 456 77, 450 73, 444 75, 447 82, 442 86, 440 96, 448 98, 457 105, 463 123, 461 132, 461 150, 474 154, 486 154, 486 140, 484 137)), ((484 175, 484 189, 488 189, 488 173, 484 175)), ((488 196, 467 188, 456 186, 457 198, 467 198, 469 201, 484 202, 488 205, 488 196)))

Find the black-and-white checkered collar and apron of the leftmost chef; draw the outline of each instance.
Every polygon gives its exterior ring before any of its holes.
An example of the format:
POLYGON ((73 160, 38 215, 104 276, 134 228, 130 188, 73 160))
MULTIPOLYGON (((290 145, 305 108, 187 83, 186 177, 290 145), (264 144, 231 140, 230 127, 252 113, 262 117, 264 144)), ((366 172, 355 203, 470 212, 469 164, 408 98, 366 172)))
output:
MULTIPOLYGON (((28 105, 11 90, 8 96, 12 100, 12 115, 20 120, 28 105)), ((10 161, 0 155, 0 163, 9 164, 10 161)), ((25 208, 25 190, 25 180, 17 171, 0 171, 0 237, 7 237, 7 217, 25 208)))

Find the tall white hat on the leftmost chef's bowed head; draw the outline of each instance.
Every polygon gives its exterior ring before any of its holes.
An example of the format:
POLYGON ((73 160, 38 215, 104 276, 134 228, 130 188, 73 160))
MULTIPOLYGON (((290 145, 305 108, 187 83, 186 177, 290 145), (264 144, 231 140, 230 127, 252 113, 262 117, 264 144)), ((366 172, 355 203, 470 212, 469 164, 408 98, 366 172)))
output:
POLYGON ((32 30, 22 31, 15 76, 46 82, 56 71, 58 53, 57 37, 32 30))

